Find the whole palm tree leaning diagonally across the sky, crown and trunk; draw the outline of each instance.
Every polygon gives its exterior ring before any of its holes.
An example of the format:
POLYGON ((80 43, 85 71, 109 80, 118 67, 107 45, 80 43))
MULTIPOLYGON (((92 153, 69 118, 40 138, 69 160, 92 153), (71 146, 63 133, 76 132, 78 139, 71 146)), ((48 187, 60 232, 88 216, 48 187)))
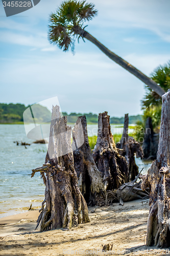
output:
POLYGON ((64 51, 67 51, 69 47, 74 48, 76 35, 79 36, 79 38, 82 37, 83 40, 86 38, 96 45, 110 59, 147 84, 147 86, 159 96, 162 96, 165 91, 158 86, 155 81, 144 75, 123 58, 111 52, 108 48, 102 45, 100 41, 84 30, 84 22, 92 19, 97 12, 97 10, 94 10, 94 5, 87 4, 86 1, 64 1, 60 8, 50 15, 51 25, 49 26, 50 30, 48 34, 50 42, 58 45, 60 49, 63 48, 64 51))

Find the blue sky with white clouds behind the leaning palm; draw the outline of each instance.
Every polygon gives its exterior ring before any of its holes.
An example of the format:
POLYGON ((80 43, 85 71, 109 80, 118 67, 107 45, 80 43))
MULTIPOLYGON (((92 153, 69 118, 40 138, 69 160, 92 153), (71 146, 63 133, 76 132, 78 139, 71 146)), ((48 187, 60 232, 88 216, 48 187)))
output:
MULTIPOLYGON (((87 1, 88 2, 88 1, 87 1)), ((150 76, 170 60, 169 0, 91 0, 98 16, 86 30, 150 76)), ((85 39, 75 54, 47 39, 60 0, 41 0, 6 17, 0 2, 0 102, 34 104, 58 98, 63 112, 121 117, 141 114, 144 83, 85 39)))

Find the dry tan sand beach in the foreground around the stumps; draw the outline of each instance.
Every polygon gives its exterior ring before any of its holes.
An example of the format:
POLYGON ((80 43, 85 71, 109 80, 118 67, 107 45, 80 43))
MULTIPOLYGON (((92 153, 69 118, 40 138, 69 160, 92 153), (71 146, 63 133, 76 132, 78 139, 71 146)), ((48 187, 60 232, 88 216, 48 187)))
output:
POLYGON ((170 255, 168 249, 145 247, 148 214, 149 200, 89 207, 90 223, 41 233, 34 230, 37 210, 2 218, 0 255, 108 255, 102 252, 106 244, 113 245, 110 255, 170 255))

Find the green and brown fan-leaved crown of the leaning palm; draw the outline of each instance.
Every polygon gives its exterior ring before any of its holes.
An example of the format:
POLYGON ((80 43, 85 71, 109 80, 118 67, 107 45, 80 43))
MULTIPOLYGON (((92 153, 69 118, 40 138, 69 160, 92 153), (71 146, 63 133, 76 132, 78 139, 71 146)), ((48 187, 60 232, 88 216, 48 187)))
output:
POLYGON ((75 35, 79 34, 77 30, 82 29, 84 22, 96 14, 97 10, 94 10, 93 4, 87 4, 85 1, 64 1, 59 10, 50 15, 50 41, 67 51, 71 44, 74 44, 75 35))

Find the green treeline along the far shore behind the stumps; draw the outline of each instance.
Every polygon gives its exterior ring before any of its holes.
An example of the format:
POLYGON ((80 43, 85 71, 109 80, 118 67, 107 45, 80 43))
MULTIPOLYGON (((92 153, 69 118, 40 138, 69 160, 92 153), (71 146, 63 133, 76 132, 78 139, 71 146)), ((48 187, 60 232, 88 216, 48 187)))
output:
MULTIPOLYGON (((30 105, 25 106, 24 104, 5 104, 0 103, 0 123, 23 123, 23 112, 29 108, 30 105)), ((32 113, 34 115, 35 121, 42 123, 51 120, 51 112, 41 106, 39 104, 34 104, 31 106, 32 113)), ((29 116, 28 112, 28 122, 32 122, 32 116, 29 116)), ((78 116, 86 116, 87 123, 89 124, 96 124, 98 123, 98 115, 92 113, 70 113, 69 115, 66 112, 62 113, 64 116, 67 116, 68 123, 75 123, 77 121, 78 116)), ((141 121, 142 116, 129 116, 129 123, 134 124, 137 121, 141 121)), ((123 124, 124 117, 111 117, 110 118, 111 124, 123 124)))

